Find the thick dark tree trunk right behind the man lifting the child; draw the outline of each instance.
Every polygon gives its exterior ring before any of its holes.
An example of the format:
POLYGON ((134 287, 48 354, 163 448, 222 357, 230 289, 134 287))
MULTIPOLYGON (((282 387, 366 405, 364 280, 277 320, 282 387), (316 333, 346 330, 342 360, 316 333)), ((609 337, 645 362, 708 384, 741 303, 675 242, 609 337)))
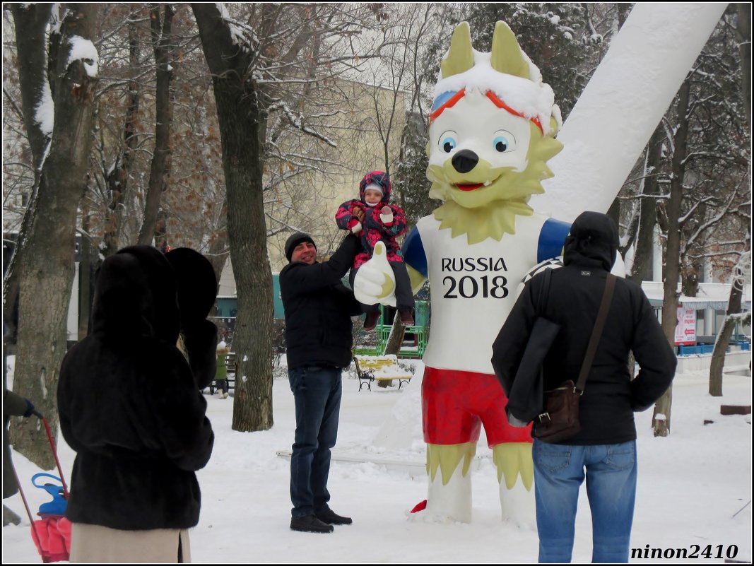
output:
POLYGON ((233 347, 238 359, 233 430, 272 427, 272 274, 262 200, 264 112, 247 82, 255 54, 231 41, 216 5, 192 4, 213 75, 222 167, 228 194, 228 241, 238 289, 233 347))

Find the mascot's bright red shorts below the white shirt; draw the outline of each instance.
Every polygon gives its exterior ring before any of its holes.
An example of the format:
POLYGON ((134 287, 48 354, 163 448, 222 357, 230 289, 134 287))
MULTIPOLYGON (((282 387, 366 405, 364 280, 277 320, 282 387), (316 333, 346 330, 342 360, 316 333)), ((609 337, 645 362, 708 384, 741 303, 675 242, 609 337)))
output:
POLYGON ((482 424, 490 448, 502 442, 532 442, 531 425, 508 424, 507 402, 495 375, 425 367, 421 382, 425 442, 477 442, 482 424))

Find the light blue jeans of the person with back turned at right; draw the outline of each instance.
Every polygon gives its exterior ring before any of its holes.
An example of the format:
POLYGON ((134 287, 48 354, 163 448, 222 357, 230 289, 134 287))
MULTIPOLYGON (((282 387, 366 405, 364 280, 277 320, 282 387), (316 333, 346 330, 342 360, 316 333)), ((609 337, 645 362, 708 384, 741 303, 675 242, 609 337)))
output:
POLYGON ((534 440, 540 562, 570 562, 578 491, 587 478, 592 561, 627 562, 636 500, 636 441, 596 446, 534 440))

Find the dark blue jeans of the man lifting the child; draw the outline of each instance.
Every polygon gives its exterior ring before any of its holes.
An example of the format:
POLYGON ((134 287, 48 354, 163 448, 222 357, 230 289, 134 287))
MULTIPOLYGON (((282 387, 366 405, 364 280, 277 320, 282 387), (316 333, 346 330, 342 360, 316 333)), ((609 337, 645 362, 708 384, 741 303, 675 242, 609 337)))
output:
POLYGON ((296 437, 290 457, 293 519, 328 509, 330 448, 338 438, 341 370, 303 366, 288 370, 296 402, 296 437))

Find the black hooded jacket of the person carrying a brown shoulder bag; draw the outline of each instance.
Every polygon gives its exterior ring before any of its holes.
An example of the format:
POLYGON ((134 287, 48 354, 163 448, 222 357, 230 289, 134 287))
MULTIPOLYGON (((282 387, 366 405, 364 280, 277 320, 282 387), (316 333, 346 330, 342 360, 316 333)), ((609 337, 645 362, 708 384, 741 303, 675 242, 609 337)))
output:
MULTIPOLYGON (((618 250, 618 234, 608 216, 583 213, 566 239, 564 267, 553 270, 547 307, 536 305, 544 277, 527 283, 495 341, 495 369, 510 392, 529 333, 538 316, 560 325, 544 358, 544 390, 577 381, 599 311, 602 291, 618 250)), ((670 386, 676 356, 641 287, 618 278, 605 329, 581 396, 581 432, 570 445, 618 444, 636 439, 634 411, 644 411, 670 386), (633 381, 630 351, 639 363, 633 381)), ((522 402, 522 405, 524 402, 522 402)))

